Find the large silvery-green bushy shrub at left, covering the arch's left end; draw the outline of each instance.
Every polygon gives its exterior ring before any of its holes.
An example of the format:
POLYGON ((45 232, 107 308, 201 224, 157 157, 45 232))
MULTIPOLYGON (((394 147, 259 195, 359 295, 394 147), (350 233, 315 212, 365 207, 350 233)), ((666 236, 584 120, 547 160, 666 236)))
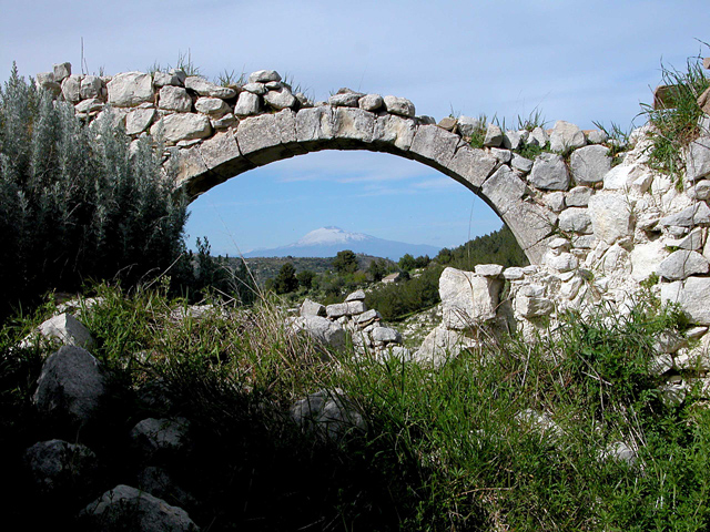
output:
POLYGON ((130 149, 105 119, 83 126, 14 65, 0 90, 0 316, 90 277, 135 283, 184 250, 184 200, 148 142, 130 149))

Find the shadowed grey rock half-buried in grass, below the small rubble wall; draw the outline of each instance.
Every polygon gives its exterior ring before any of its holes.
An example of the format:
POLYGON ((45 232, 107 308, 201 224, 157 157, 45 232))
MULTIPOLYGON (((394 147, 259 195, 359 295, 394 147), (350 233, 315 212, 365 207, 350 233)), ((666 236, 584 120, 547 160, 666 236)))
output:
POLYGON ((367 430, 363 416, 339 389, 311 393, 293 406, 291 416, 303 430, 332 441, 339 441, 353 431, 367 430))

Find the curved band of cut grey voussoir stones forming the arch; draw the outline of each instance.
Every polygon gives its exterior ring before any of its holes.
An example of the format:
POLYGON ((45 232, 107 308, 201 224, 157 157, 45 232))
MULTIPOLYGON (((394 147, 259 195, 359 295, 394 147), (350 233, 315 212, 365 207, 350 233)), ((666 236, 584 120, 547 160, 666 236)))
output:
POLYGON ((385 152, 446 174, 500 216, 532 264, 540 263, 555 232, 557 215, 490 150, 474 149, 422 119, 386 111, 321 105, 247 116, 190 146, 170 147, 164 167, 194 198, 248 170, 322 150, 385 152))

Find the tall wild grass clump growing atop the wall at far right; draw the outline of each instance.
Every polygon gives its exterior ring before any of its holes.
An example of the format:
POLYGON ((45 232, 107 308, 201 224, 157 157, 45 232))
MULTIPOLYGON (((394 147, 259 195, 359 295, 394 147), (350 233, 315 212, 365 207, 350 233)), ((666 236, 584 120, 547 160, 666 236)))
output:
POLYGON ((698 136, 698 120, 702 115, 698 98, 710 86, 702 58, 689 58, 683 70, 661 63, 661 84, 667 85, 665 100, 668 106, 656 109, 641 104, 640 115, 652 125, 649 164, 667 174, 678 175, 684 167, 683 149, 698 136))

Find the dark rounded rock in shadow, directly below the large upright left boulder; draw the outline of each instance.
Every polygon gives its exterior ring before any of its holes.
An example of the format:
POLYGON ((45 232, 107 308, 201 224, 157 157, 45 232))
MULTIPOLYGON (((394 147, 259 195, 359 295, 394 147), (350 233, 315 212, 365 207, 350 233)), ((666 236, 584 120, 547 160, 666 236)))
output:
POLYGON ((62 499, 83 494, 99 467, 91 449, 63 440, 34 443, 24 451, 24 460, 38 490, 62 499))

